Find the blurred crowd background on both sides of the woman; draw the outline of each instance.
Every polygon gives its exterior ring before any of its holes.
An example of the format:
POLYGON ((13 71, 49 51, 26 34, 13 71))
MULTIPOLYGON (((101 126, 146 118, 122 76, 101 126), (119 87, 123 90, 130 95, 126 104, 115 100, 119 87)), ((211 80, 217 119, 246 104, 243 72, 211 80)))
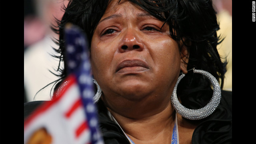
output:
MULTIPOLYGON (((58 79, 50 72, 55 72, 59 64, 51 56, 57 55, 53 48, 58 46, 52 38, 58 39, 58 34, 50 26, 56 25, 55 18, 62 18, 62 7, 67 4, 68 0, 24 0, 24 102, 51 100, 53 84, 39 90, 58 79)), ((217 48, 228 61, 224 90, 232 91, 232 0, 213 0, 213 5, 220 23, 218 36, 225 38, 217 48)))

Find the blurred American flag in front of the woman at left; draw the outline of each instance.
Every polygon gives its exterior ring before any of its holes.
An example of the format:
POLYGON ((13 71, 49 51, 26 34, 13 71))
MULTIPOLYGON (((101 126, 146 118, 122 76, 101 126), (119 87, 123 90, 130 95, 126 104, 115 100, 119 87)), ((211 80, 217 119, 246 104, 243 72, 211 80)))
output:
POLYGON ((39 133, 48 144, 104 144, 92 102, 95 93, 86 35, 69 24, 65 41, 68 76, 64 82, 68 83, 55 93, 55 99, 42 104, 24 121, 24 144, 30 144, 39 133))

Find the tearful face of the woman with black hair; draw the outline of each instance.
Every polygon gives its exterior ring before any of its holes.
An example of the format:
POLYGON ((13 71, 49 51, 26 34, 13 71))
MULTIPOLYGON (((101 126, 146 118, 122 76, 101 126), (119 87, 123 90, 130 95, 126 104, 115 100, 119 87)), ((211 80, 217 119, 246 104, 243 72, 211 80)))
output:
POLYGON ((104 98, 170 98, 182 60, 168 24, 129 1, 117 2, 110 3, 92 36, 92 72, 104 98))

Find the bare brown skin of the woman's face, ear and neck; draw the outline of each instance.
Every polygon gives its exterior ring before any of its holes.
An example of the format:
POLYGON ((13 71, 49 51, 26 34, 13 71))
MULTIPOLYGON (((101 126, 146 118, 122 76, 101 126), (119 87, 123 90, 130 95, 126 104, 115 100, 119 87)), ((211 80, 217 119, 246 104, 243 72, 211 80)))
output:
POLYGON ((129 1, 113 0, 92 37, 92 73, 101 98, 136 144, 170 143, 175 119, 170 97, 179 73, 187 73, 188 50, 180 51, 163 24, 129 1))

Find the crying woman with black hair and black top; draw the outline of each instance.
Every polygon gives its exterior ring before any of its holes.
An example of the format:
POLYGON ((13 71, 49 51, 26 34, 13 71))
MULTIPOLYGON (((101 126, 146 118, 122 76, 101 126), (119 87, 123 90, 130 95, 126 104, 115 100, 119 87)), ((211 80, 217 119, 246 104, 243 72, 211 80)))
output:
MULTIPOLYGON (((97 102, 106 144, 170 144, 178 127, 180 144, 231 143, 231 94, 222 91, 216 110, 199 120, 176 113, 171 96, 186 108, 204 107, 211 82, 192 68, 212 74, 223 85, 225 64, 216 49, 219 29, 210 0, 72 0, 60 21, 86 32, 92 74, 102 90, 97 102), (177 119, 177 120, 176 120, 177 119), (177 121, 177 125, 175 122, 177 121)), ((63 78, 66 69, 60 70, 63 78)), ((57 87, 56 87, 57 88, 57 87)))

